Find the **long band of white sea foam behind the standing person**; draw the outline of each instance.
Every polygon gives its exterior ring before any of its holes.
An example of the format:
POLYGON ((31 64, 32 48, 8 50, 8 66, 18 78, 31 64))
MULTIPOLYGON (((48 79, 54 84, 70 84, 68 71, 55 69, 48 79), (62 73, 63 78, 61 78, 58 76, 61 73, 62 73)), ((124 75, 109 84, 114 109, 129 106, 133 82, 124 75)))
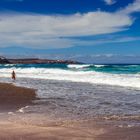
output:
MULTIPOLYGON (((0 69, 0 77, 10 77, 13 68, 0 69)), ((68 80, 140 89, 140 74, 111 74, 95 71, 72 71, 47 68, 15 68, 17 77, 68 80)))

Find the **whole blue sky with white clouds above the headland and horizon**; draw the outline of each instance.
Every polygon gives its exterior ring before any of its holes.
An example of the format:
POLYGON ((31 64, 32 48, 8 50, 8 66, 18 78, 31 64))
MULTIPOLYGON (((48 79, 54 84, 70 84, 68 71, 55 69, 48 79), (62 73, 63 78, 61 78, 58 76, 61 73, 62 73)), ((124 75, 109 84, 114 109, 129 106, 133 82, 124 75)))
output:
POLYGON ((0 55, 140 62, 140 0, 0 0, 0 55))

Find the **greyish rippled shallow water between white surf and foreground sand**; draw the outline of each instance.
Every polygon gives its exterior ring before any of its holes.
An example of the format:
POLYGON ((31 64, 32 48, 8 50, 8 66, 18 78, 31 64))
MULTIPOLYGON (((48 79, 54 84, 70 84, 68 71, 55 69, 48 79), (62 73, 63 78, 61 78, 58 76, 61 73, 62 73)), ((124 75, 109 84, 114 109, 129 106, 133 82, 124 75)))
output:
MULTIPOLYGON (((8 78, 0 81, 11 82, 8 78)), ((71 120, 137 116, 136 119, 140 120, 140 91, 136 89, 30 78, 18 78, 14 84, 37 89, 40 98, 34 101, 34 106, 23 108, 23 114, 35 113, 51 119, 71 120)))

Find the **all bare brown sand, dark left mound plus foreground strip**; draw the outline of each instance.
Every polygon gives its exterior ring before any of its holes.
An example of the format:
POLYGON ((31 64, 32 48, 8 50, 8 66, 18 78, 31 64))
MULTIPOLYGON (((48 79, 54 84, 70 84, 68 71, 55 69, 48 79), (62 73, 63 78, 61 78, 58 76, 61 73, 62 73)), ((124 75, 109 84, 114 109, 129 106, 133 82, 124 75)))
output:
MULTIPOLYGON (((36 99, 33 89, 0 84, 0 113, 34 105, 32 101, 36 99)), ((1 116, 0 140, 140 140, 140 127, 117 127, 115 122, 107 123, 100 119, 39 126, 12 122, 1 116)))

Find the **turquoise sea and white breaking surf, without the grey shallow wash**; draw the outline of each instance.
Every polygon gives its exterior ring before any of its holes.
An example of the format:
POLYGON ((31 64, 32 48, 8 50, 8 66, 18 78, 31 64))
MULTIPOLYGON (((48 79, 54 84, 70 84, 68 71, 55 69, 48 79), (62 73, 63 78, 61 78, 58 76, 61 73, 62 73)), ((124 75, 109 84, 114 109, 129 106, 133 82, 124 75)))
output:
POLYGON ((0 77, 10 77, 12 70, 16 71, 18 78, 64 80, 140 89, 140 65, 6 64, 0 65, 0 77))

